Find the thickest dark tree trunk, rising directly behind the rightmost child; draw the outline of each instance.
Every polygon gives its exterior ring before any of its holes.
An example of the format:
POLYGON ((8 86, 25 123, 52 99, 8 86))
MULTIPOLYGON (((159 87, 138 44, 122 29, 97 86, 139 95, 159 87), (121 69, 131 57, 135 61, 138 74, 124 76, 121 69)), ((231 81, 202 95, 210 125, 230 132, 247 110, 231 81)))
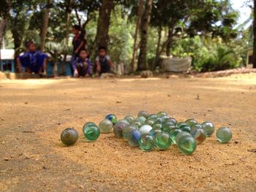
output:
POLYGON ((108 29, 110 26, 111 11, 113 8, 113 0, 102 1, 102 6, 99 8, 96 47, 106 47, 108 50, 108 29))

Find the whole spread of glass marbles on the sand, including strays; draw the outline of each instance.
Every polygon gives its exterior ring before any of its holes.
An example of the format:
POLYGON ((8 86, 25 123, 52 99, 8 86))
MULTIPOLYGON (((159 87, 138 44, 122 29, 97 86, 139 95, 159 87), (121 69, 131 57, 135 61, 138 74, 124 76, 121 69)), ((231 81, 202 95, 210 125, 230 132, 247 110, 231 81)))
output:
MULTIPOLYGON (((198 123, 195 119, 177 122, 166 112, 148 114, 145 111, 138 113, 138 117, 126 116, 117 120, 116 115, 110 114, 97 126, 89 122, 83 126, 86 140, 95 141, 102 134, 113 131, 117 138, 127 140, 131 147, 140 147, 144 151, 167 150, 176 145, 181 153, 191 155, 197 145, 202 144, 207 137, 214 134, 214 124, 211 122, 198 123)), ((219 142, 226 143, 232 138, 230 128, 222 127, 216 132, 219 142)), ((78 132, 67 128, 61 133, 61 141, 65 145, 73 145, 78 140, 78 132)))

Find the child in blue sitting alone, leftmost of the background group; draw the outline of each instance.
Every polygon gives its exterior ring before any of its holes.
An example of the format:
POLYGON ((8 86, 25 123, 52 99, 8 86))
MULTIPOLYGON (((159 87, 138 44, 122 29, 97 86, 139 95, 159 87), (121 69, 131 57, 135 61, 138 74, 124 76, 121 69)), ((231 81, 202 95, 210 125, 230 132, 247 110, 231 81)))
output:
POLYGON ((21 73, 23 68, 25 68, 25 72, 46 75, 48 56, 37 50, 36 45, 32 41, 26 42, 26 49, 26 53, 18 56, 16 60, 18 71, 21 73))

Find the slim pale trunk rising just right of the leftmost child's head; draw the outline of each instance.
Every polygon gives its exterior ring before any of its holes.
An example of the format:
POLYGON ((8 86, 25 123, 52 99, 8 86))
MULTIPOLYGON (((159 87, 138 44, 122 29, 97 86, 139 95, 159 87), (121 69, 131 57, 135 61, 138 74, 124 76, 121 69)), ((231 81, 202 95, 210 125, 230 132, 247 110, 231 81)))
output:
POLYGON ((50 15, 50 4, 51 4, 51 0, 47 0, 47 5, 46 5, 47 7, 45 9, 44 19, 43 19, 43 23, 42 23, 42 27, 41 27, 41 31, 40 31, 40 37, 41 37, 40 50, 42 52, 45 51, 45 40, 46 40, 48 21, 49 21, 49 15, 50 15))

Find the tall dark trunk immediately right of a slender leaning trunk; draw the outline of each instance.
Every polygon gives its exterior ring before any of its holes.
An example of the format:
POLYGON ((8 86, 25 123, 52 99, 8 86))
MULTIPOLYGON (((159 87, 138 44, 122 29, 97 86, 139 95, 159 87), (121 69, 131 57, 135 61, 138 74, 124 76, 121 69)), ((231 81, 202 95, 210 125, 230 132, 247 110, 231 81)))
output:
POLYGON ((152 10, 152 0, 146 1, 146 7, 143 13, 143 18, 141 20, 140 28, 140 55, 138 59, 138 70, 147 69, 147 43, 148 43, 148 26, 151 19, 151 10, 152 10))

